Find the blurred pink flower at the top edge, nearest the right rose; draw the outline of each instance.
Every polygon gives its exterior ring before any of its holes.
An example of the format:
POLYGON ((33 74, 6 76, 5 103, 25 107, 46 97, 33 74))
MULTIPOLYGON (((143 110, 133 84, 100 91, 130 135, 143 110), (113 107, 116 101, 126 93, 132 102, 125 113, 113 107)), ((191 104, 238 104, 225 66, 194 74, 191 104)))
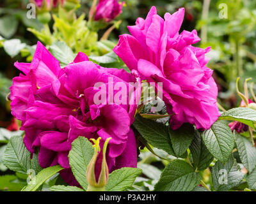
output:
POLYGON ((123 8, 122 3, 118 3, 118 0, 99 0, 96 7, 95 20, 103 19, 105 22, 110 22, 120 13, 123 8))

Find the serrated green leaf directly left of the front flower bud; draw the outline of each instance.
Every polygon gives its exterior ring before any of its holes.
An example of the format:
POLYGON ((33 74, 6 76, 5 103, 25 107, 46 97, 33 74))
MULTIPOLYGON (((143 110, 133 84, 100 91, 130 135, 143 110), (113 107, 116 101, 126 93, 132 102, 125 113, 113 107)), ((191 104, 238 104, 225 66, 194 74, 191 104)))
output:
POLYGON ((86 168, 94 154, 92 143, 87 138, 79 136, 72 142, 72 149, 68 154, 71 170, 77 182, 87 189, 86 168))

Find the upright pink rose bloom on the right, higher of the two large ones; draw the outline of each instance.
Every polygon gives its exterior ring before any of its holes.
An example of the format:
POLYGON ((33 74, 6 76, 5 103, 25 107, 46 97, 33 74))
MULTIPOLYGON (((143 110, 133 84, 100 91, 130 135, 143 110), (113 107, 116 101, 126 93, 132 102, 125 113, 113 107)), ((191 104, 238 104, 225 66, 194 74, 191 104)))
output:
MULTIPOLYGON (((182 31, 184 8, 166 13, 164 19, 152 7, 147 18, 138 18, 129 26, 132 35, 120 36, 114 52, 129 69, 136 69, 148 82, 163 83, 163 100, 171 117, 173 129, 182 123, 209 129, 220 115, 216 105, 218 89, 207 68, 206 49, 193 47, 200 41, 196 31, 182 31)), ((141 78, 142 79, 142 78, 141 78)), ((160 91, 159 87, 156 89, 160 91)))

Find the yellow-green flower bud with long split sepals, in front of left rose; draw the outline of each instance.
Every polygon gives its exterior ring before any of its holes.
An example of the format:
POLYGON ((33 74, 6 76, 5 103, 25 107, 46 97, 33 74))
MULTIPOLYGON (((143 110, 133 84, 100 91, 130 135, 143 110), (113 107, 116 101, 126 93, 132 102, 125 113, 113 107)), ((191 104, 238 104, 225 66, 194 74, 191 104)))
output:
POLYGON ((91 139, 92 142, 94 143, 93 145, 94 155, 92 157, 92 160, 88 164, 87 170, 86 170, 86 179, 88 181, 87 191, 105 191, 105 186, 108 183, 109 172, 108 172, 108 164, 106 162, 106 150, 107 150, 108 142, 109 140, 111 140, 111 138, 108 138, 103 146, 101 171, 100 171, 98 181, 96 181, 96 177, 95 177, 95 163, 97 161, 97 156, 100 152, 100 145, 99 145, 100 139, 101 139, 100 137, 97 138, 97 140, 91 139))

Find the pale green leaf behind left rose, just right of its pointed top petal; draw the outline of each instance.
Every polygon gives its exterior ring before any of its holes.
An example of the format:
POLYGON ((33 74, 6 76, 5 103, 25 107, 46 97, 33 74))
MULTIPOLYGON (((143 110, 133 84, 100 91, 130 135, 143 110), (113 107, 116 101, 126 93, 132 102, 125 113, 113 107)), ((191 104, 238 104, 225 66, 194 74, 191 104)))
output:
POLYGON ((70 47, 63 41, 58 41, 50 46, 49 51, 58 61, 61 62, 61 67, 66 66, 70 62, 74 61, 76 55, 73 53, 70 47))

